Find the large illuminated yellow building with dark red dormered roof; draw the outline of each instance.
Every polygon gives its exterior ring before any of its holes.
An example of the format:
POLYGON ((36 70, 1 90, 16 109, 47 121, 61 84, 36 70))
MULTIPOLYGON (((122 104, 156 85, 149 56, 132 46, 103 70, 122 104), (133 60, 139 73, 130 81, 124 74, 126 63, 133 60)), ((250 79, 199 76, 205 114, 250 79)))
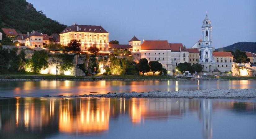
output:
POLYGON ((70 40, 78 40, 81 44, 81 51, 87 53, 88 48, 96 44, 99 53, 109 54, 109 33, 101 26, 77 25, 66 27, 60 33, 60 44, 68 45, 70 40))

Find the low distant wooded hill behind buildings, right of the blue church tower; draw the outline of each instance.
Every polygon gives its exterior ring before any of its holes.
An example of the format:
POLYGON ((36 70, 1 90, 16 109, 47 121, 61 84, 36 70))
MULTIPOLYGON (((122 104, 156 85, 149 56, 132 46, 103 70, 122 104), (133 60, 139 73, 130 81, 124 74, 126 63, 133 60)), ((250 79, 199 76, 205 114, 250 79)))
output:
POLYGON ((223 48, 218 48, 215 51, 225 51, 225 50, 231 50, 235 51, 236 49, 240 51, 248 51, 255 53, 256 52, 256 42, 238 42, 223 48))

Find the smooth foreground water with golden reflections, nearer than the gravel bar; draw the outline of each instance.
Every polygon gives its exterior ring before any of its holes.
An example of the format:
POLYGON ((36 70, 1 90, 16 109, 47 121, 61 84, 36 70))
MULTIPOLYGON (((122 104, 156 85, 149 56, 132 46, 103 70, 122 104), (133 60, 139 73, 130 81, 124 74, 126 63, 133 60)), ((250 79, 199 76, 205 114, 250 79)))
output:
POLYGON ((0 99, 0 121, 0 138, 249 139, 256 99, 17 97, 0 99))

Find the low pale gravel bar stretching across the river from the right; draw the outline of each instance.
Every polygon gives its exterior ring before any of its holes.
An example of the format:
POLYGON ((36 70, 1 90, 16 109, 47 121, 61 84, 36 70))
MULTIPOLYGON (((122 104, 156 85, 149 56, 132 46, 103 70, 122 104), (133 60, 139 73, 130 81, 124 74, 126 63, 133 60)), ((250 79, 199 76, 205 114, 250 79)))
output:
POLYGON ((80 97, 104 98, 203 98, 203 99, 249 99, 256 98, 256 89, 205 89, 193 91, 150 91, 131 93, 90 94, 80 97))

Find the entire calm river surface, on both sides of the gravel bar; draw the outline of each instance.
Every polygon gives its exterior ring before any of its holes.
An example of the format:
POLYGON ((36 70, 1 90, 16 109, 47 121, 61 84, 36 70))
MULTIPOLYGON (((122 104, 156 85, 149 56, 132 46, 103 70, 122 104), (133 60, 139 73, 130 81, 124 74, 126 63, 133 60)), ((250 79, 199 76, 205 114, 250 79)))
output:
POLYGON ((256 99, 41 97, 208 88, 256 81, 1 81, 0 138, 255 139, 256 99))

